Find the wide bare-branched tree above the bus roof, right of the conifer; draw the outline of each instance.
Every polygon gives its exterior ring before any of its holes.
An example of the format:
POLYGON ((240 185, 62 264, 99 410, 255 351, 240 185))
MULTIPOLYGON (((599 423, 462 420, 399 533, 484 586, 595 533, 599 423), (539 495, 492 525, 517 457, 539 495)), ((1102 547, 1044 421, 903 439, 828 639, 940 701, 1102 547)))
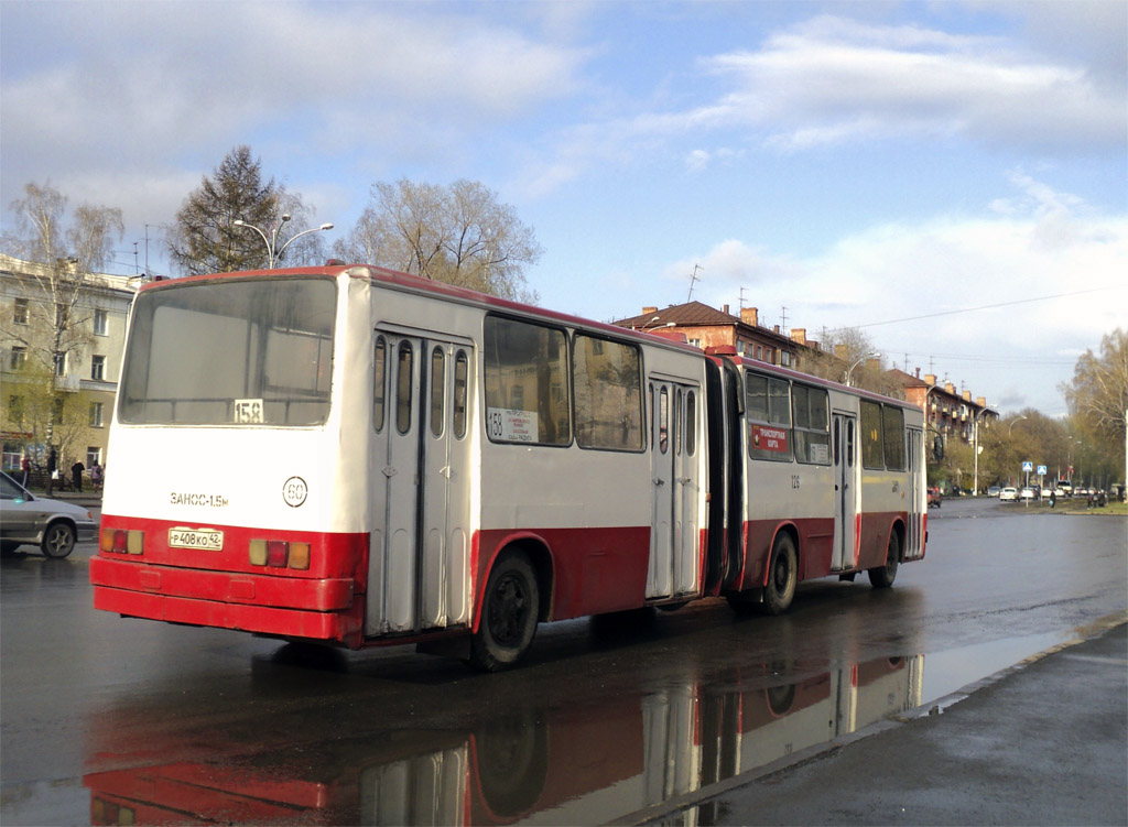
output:
POLYGON ((372 204, 334 245, 355 263, 402 270, 494 296, 536 301, 525 269, 544 252, 496 193, 472 181, 448 187, 400 179, 372 185, 372 204))

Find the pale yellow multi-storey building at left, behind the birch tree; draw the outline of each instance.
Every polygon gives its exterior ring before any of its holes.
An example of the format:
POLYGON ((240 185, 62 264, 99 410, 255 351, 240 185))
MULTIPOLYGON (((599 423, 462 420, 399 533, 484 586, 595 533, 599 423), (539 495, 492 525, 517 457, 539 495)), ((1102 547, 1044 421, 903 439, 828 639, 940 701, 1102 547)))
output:
MULTIPOLYGON (((53 372, 56 424, 52 442, 63 450, 60 466, 81 460, 106 464, 106 446, 117 381, 121 376, 125 324, 140 284, 136 278, 87 273, 77 300, 65 310, 51 296, 46 267, 0 255, 0 436, 3 467, 19 467, 24 456, 43 463, 46 416, 42 412, 43 377, 53 372), (73 329, 54 366, 39 364, 51 352, 51 318, 64 313, 73 329), (58 393, 61 391, 61 395, 58 393), (41 397, 41 398, 36 398, 41 397)), ((56 323, 58 324, 58 323, 56 323)))

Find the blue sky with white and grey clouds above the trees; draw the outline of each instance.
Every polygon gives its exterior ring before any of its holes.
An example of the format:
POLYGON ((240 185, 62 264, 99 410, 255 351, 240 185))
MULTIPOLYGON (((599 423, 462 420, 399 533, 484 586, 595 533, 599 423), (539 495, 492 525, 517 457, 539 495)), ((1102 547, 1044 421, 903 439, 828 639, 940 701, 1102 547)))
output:
POLYGON ((856 327, 1060 416, 1128 328, 1126 50, 1122 0, 0 0, 2 229, 50 183, 122 210, 107 271, 169 273, 239 144, 329 244, 377 182, 465 178, 534 229, 543 307, 856 327))

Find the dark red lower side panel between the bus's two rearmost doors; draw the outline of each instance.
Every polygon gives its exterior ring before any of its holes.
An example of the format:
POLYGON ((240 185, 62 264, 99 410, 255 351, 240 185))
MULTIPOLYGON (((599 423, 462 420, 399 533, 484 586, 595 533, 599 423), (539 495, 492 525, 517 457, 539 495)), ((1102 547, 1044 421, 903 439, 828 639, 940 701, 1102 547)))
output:
MULTIPOLYGON (((622 612, 642 606, 646 600, 650 564, 650 527, 548 528, 522 530, 483 530, 478 537, 476 593, 485 591, 485 581, 497 553, 514 535, 534 535, 552 555, 554 587, 553 621, 622 612)), ((549 596, 541 595, 541 600, 549 596)))

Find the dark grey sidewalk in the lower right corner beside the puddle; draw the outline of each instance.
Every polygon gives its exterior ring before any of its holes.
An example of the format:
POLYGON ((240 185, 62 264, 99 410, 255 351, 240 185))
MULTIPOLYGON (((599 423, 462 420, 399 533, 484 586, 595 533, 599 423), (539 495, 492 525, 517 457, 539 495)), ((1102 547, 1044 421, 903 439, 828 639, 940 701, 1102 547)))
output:
POLYGON ((1122 619, 977 686, 932 713, 922 709, 791 766, 670 802, 644 813, 645 822, 1128 824, 1122 619))

